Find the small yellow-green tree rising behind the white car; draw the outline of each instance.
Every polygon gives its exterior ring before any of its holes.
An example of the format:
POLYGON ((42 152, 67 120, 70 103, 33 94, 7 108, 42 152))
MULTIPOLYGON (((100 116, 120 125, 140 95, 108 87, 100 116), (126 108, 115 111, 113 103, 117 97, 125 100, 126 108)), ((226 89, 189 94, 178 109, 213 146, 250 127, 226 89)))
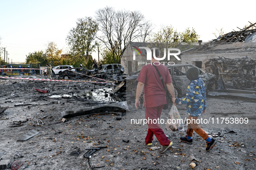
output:
POLYGON ((62 49, 58 49, 55 42, 48 42, 45 54, 47 56, 47 60, 54 66, 62 64, 61 54, 62 49))

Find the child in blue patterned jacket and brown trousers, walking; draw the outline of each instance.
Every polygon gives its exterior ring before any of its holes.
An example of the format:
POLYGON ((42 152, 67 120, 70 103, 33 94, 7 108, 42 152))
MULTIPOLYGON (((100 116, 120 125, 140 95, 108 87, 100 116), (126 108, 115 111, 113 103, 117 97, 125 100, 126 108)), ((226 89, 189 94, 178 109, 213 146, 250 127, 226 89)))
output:
POLYGON ((210 151, 216 144, 216 141, 211 139, 196 121, 198 116, 204 114, 206 110, 204 81, 201 79, 201 77, 199 77, 199 69, 197 67, 190 67, 186 72, 186 76, 190 80, 187 95, 180 99, 176 98, 175 101, 173 100, 173 102, 177 104, 187 104, 188 129, 187 135, 185 137, 181 137, 181 141, 192 144, 193 139, 191 137, 193 132, 196 132, 207 141, 206 151, 210 151))

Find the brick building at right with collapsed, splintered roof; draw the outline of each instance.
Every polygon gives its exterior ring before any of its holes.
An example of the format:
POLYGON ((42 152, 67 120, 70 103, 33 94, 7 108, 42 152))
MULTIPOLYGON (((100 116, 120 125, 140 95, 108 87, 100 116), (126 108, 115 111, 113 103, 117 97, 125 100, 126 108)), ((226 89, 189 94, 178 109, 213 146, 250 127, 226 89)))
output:
POLYGON ((256 29, 248 26, 241 31, 233 31, 211 42, 203 43, 181 54, 181 61, 193 64, 205 70, 205 64, 211 58, 243 58, 256 60, 256 29))

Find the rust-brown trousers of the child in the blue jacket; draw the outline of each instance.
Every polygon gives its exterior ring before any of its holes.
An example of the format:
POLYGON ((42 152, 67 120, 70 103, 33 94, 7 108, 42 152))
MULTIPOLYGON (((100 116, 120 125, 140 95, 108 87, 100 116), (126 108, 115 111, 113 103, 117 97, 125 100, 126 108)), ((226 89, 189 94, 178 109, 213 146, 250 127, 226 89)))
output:
POLYGON ((196 123, 196 120, 198 119, 198 116, 191 116, 191 115, 189 115, 188 119, 190 119, 190 122, 191 122, 190 124, 188 124, 188 129, 187 129, 187 135, 188 136, 192 137, 193 132, 196 132, 204 140, 209 138, 207 133, 205 133, 204 130, 196 123))

